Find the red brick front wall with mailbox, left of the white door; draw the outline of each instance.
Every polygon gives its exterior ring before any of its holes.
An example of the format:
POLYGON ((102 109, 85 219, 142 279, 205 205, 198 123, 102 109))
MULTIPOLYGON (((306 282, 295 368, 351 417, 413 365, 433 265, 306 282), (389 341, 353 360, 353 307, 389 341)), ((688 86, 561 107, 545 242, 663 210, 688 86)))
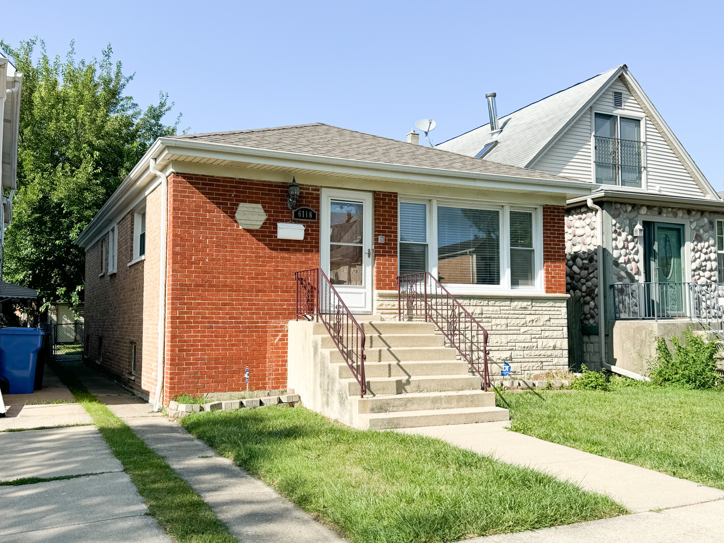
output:
MULTIPOLYGON (((169 177, 166 401, 182 392, 285 388, 287 321, 294 272, 319 266, 319 223, 303 241, 277 240, 290 222, 287 184, 224 177, 169 177), (240 202, 260 203, 259 230, 235 221, 240 202)), ((319 188, 302 185, 299 206, 319 211, 319 188)))

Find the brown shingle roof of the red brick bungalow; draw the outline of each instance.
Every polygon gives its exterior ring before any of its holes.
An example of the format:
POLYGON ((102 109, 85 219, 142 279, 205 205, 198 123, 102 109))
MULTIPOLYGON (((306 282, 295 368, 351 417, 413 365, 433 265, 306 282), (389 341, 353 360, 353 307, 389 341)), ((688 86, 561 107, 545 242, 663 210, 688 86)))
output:
POLYGON ((476 174, 508 175, 531 179, 573 181, 494 161, 473 159, 440 148, 413 145, 405 141, 356 132, 346 128, 313 123, 233 132, 169 136, 179 140, 197 140, 230 146, 287 151, 312 156, 398 164, 412 167, 451 169, 476 174))

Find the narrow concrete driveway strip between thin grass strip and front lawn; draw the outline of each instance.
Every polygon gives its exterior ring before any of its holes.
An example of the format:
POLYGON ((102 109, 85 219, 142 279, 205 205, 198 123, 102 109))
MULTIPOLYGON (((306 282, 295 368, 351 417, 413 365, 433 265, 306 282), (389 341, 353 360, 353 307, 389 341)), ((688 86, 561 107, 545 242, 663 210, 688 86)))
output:
POLYGON ((190 484, 240 542, 344 541, 179 424, 156 417, 124 421, 190 484))

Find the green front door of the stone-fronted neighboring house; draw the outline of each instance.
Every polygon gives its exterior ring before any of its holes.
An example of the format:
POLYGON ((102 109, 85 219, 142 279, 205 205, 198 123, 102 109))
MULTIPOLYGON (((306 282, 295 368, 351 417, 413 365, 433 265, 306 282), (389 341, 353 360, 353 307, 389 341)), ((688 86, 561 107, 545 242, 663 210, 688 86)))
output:
POLYGON ((659 316, 686 316, 681 267, 683 227, 654 223, 654 295, 659 316))

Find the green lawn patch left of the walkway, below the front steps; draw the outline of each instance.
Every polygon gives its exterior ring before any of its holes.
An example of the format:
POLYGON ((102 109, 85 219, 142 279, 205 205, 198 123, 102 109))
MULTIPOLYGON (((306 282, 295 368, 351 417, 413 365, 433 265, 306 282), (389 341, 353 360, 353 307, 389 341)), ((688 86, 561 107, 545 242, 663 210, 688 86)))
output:
POLYGON ((305 408, 181 423, 354 542, 445 542, 627 513, 607 497, 429 437, 336 424, 305 408))

